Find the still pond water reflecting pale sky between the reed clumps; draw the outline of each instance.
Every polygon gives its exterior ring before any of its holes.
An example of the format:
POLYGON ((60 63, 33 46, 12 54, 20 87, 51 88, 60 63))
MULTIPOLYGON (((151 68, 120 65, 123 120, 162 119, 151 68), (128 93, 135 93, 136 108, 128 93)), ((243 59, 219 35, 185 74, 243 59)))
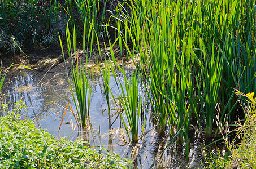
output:
MULTIPOLYGON (((22 99, 28 106, 27 110, 22 113, 23 117, 36 120, 34 124, 44 128, 57 139, 67 137, 74 141, 83 138, 89 142, 89 146, 95 149, 98 145, 104 145, 109 152, 115 152, 123 158, 132 159, 134 168, 149 168, 163 152, 171 140, 170 137, 158 137, 154 128, 155 124, 151 120, 150 105, 148 105, 144 130, 147 134, 139 143, 129 143, 117 110, 111 110, 109 120, 105 109, 107 103, 103 91, 103 79, 98 73, 94 73, 93 76, 89 127, 84 132, 79 131, 77 126, 74 128, 76 125, 75 118, 70 111, 67 111, 58 132, 67 104, 70 103, 74 111, 75 104, 73 104, 64 63, 52 61, 52 63, 51 60, 42 61, 41 66, 34 66, 33 70, 11 69, 7 74, 5 86, 2 88, 2 98, 5 103, 13 106, 16 101, 22 99)), ((128 68, 127 73, 129 70, 131 69, 128 68)), ((110 88, 113 94, 118 96, 118 88, 112 76, 110 77, 110 88)), ((194 137, 193 134, 192 137, 194 137)), ((173 143, 164 151, 154 168, 201 168, 202 146, 197 139, 192 138, 192 140, 188 161, 184 150, 173 143)))

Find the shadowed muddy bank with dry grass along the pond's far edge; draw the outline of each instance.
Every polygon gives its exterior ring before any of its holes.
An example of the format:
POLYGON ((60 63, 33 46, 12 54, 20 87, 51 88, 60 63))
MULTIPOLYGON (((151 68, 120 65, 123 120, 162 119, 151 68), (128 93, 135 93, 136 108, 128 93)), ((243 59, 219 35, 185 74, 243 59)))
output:
MULTIPOLYGON (((82 50, 83 46, 81 46, 81 42, 77 41, 77 56, 90 56, 89 64, 97 64, 97 60, 99 63, 104 61, 105 59, 109 58, 109 46, 106 45, 105 47, 104 42, 100 43, 100 52, 101 56, 99 55, 98 45, 97 43, 93 45, 92 48, 86 49, 84 52, 82 50)), ((64 50, 67 49, 64 45, 64 50)), ((127 57, 125 57, 125 50, 122 50, 122 58, 121 58, 121 51, 119 46, 115 47, 114 55, 117 60, 120 61, 127 61, 127 57)), ((68 59, 68 52, 64 52, 65 59, 68 59)), ((5 55, 0 55, 0 62, 2 65, 2 69, 8 68, 11 64, 20 64, 29 66, 30 68, 38 68, 44 69, 45 66, 49 64, 55 63, 55 65, 60 64, 64 61, 62 50, 60 45, 52 45, 47 48, 39 48, 39 47, 31 47, 25 48, 23 52, 20 52, 18 55, 14 55, 13 53, 8 53, 5 55)))

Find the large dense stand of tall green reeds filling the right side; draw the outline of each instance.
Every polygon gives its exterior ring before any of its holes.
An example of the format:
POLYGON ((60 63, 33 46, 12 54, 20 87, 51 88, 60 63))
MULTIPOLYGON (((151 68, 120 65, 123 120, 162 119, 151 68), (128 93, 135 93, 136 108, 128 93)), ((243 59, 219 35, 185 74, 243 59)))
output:
POLYGON ((216 104, 221 103, 221 122, 232 122, 237 106, 232 88, 255 90, 255 26, 248 26, 255 24, 255 8, 252 1, 184 2, 131 2, 119 38, 129 56, 134 54, 128 42, 139 53, 159 135, 167 126, 172 136, 183 128, 177 141, 187 143, 188 152, 193 115, 211 136, 216 104))

